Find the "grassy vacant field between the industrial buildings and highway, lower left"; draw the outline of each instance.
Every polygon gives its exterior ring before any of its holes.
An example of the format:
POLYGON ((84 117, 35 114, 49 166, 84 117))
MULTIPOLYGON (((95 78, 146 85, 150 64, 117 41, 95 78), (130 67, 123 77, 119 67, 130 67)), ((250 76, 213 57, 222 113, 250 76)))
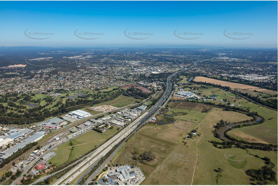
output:
POLYGON ((77 138, 66 142, 57 147, 57 150, 53 150, 57 154, 52 157, 48 162, 52 162, 55 166, 66 163, 67 161, 72 161, 76 158, 80 159, 84 156, 84 153, 87 153, 89 150, 93 149, 97 144, 102 144, 105 140, 116 134, 118 127, 104 131, 103 133, 98 133, 96 131, 89 131, 77 138))

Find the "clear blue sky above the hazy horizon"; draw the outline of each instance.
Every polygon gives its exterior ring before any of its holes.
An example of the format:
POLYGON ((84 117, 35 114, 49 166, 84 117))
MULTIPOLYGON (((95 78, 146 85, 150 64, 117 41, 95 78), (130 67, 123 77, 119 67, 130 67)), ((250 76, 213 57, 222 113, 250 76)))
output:
POLYGON ((0 1, 0 25, 1 46, 277 48, 277 1, 0 1))

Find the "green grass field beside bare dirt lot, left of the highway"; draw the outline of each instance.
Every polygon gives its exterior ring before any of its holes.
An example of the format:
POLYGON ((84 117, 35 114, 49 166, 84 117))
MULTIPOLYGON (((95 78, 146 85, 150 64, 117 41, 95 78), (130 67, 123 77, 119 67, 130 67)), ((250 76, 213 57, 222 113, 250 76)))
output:
POLYGON ((124 106, 135 103, 135 101, 137 101, 137 100, 139 101, 139 99, 136 99, 136 98, 120 95, 113 100, 95 104, 93 106, 95 107, 95 106, 100 106, 100 105, 112 105, 114 107, 124 107, 124 106))

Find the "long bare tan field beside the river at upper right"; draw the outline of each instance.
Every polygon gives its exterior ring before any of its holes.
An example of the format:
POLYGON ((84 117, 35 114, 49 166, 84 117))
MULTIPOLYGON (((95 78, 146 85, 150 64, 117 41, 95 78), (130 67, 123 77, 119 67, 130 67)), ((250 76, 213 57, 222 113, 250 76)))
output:
POLYGON ((244 84, 240 84, 240 83, 221 81, 221 80, 202 77, 202 76, 196 76, 193 80, 197 81, 197 82, 207 82, 207 83, 214 83, 214 84, 218 84, 218 85, 222 85, 222 86, 229 86, 232 89, 242 88, 242 89, 249 89, 251 91, 257 90, 257 91, 265 92, 268 94, 270 94, 270 93, 277 94, 277 91, 271 91, 271 90, 267 90, 265 88, 259 88, 259 87, 255 87, 255 86, 251 86, 251 85, 244 85, 244 84))

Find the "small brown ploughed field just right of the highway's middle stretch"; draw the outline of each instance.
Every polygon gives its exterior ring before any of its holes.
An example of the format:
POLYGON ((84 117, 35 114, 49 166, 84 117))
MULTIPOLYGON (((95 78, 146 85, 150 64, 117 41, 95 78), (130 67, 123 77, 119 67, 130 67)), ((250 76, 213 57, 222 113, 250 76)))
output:
POLYGON ((187 110, 196 110, 196 111, 210 111, 212 109, 211 106, 206 106, 203 104, 194 104, 194 103, 173 103, 169 104, 169 107, 176 109, 187 109, 187 110))

